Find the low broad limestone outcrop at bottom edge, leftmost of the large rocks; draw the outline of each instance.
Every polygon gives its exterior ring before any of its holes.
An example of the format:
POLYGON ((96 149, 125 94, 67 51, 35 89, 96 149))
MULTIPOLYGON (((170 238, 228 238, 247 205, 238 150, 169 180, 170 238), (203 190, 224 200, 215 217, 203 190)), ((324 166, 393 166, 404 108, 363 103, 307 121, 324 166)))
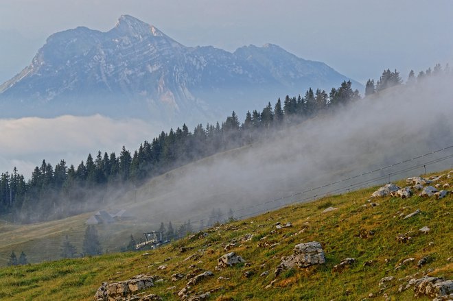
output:
POLYGON ((121 298, 131 296, 136 291, 141 291, 148 287, 154 287, 153 280, 154 277, 150 275, 137 275, 120 282, 103 282, 99 289, 97 289, 94 300, 121 300, 121 298))

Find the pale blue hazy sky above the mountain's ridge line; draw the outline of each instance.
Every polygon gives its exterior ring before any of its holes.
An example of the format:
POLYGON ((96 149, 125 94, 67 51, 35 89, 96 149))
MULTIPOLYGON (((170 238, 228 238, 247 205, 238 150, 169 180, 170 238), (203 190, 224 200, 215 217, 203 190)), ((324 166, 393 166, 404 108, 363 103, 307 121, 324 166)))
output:
POLYGON ((382 69, 453 61, 453 1, 1 0, 0 82, 29 64, 45 38, 77 26, 106 31, 121 14, 187 46, 274 43, 359 82, 382 69))

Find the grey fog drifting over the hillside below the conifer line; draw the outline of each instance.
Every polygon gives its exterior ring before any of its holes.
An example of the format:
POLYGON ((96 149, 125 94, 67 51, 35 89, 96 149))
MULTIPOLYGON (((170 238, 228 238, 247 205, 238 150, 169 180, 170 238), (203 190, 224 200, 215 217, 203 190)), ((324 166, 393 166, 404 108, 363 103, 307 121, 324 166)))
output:
MULTIPOLYGON (((229 208, 235 217, 245 217, 288 202, 341 192, 332 192, 335 189, 345 191, 349 185, 448 156, 453 148, 269 202, 453 145, 451 82, 451 77, 430 77, 417 86, 389 89, 380 97, 362 99, 334 115, 326 113, 276 132, 262 143, 172 171, 144 185, 136 195, 126 194, 124 202, 130 202, 128 208, 143 220, 156 224, 172 221, 177 226, 191 219, 197 230, 201 219, 207 224, 213 208, 220 208, 224 219, 229 208), (137 203, 131 201, 134 198, 137 203)), ((450 158, 426 169, 452 167, 450 158)), ((423 167, 391 176, 390 180, 421 173, 423 167)), ((387 181, 384 177, 358 186, 387 181)))

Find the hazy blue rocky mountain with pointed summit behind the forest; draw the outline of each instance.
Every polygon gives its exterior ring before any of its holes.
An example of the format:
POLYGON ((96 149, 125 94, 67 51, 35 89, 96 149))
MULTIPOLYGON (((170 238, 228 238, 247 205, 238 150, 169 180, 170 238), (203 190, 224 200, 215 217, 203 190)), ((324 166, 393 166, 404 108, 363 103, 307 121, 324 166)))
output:
POLYGON ((0 117, 101 113, 201 122, 343 80, 349 77, 277 45, 234 53, 185 47, 124 15, 108 32, 77 27, 49 36, 32 64, 0 86, 0 117))

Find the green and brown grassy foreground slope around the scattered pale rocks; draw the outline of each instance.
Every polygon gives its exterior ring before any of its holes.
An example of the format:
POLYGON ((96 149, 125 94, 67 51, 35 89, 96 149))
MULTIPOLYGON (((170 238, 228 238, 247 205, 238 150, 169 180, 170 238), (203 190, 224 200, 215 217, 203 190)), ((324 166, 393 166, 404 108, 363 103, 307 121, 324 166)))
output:
MULTIPOLYGON (((453 186, 453 178, 443 178, 441 183, 445 182, 453 186)), ((404 186, 404 182, 397 184, 404 186)), ((447 261, 453 253, 452 215, 445 214, 451 213, 453 209, 453 196, 450 194, 443 200, 418 196, 406 200, 386 197, 375 201, 379 206, 363 206, 369 204, 367 200, 374 190, 370 188, 325 197, 310 204, 288 206, 251 219, 221 225, 207 230, 208 236, 205 238, 183 239, 151 251, 149 256, 142 256, 143 252, 128 252, 23 267, 3 267, 0 269, 0 298, 92 300, 97 287, 104 281, 126 280, 130 276, 149 273, 161 276, 164 280, 149 289, 149 292, 157 293, 165 300, 173 300, 177 299, 174 293, 182 289, 187 280, 184 278, 172 282, 171 275, 178 272, 189 274, 192 272, 189 265, 193 264, 201 271, 211 270, 215 275, 194 286, 193 291, 223 287, 213 293, 211 300, 222 300, 221 297, 224 297, 223 300, 228 300, 226 297, 234 300, 360 300, 369 296, 369 293, 376 294, 380 289, 378 282, 384 276, 404 278, 417 272, 421 275, 430 268, 434 269, 429 273, 432 276, 453 278, 453 263, 447 261), (323 208, 328 206, 339 209, 322 213, 323 208), (399 212, 408 214, 416 209, 420 209, 421 213, 415 217, 406 220, 398 217, 399 212), (277 221, 290 221, 293 227, 271 233, 277 221), (421 234, 419 228, 423 226, 428 226, 431 231, 421 234), (357 237, 361 229, 374 230, 375 235, 371 239, 361 239, 357 237), (405 232, 411 232, 413 239, 410 243, 398 243, 395 237, 405 232), (231 251, 251 265, 216 271, 217 258, 226 253, 223 245, 232 239, 239 241, 247 233, 253 234, 253 239, 237 243, 231 251), (273 272, 281 256, 292 254, 294 245, 307 241, 321 242, 327 263, 283 272, 271 289, 264 289, 275 278, 273 272), (259 242, 279 245, 259 248, 259 242), (434 244, 430 245, 430 242, 434 244), (181 246, 192 249, 182 254, 179 251, 181 246), (205 250, 201 258, 183 261, 200 249, 205 250), (417 268, 417 261, 426 255, 432 261, 421 269, 417 268), (356 263, 342 273, 332 272, 332 267, 345 257, 356 258, 356 263), (410 257, 415 258, 415 261, 395 270, 396 265, 410 257), (167 269, 157 270, 165 258, 170 258, 165 262, 167 269), (371 260, 371 266, 364 267, 363 263, 371 260), (253 276, 244 278, 246 271, 252 271, 253 276), (259 276, 264 271, 269 271, 269 275, 259 276), (219 276, 230 280, 218 281, 219 276), (174 285, 174 289, 167 289, 174 285)), ((395 280, 386 293, 394 300, 411 300, 411 289, 397 293, 402 283, 395 280)))

